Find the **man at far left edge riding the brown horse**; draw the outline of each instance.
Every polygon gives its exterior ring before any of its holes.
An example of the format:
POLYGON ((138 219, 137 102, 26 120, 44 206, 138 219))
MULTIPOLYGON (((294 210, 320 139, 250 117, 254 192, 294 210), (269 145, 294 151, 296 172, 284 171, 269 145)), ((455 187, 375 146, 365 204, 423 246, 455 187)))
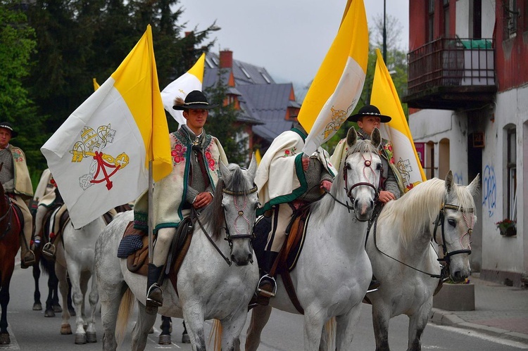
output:
POLYGON ((24 217, 24 236, 20 237, 20 267, 27 268, 35 262, 30 248, 33 220, 27 207, 33 197, 33 187, 22 149, 9 143, 17 135, 10 122, 0 123, 0 163, 4 163, 0 171, 0 182, 4 186, 4 192, 20 208, 24 217))

